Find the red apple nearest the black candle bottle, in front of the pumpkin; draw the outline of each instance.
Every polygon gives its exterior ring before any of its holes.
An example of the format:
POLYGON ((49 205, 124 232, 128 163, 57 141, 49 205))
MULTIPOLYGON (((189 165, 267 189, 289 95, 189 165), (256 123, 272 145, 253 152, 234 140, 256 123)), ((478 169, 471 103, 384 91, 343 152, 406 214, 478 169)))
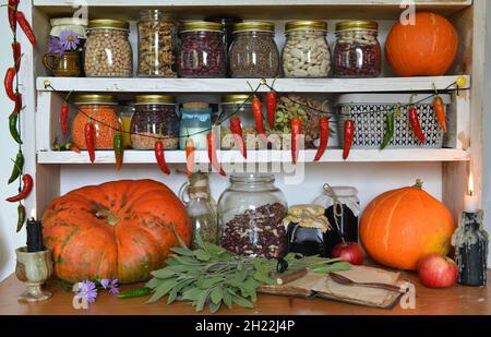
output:
POLYGON ((428 288, 446 288, 457 282, 458 268, 452 258, 430 254, 420 261, 418 275, 421 284, 428 288))

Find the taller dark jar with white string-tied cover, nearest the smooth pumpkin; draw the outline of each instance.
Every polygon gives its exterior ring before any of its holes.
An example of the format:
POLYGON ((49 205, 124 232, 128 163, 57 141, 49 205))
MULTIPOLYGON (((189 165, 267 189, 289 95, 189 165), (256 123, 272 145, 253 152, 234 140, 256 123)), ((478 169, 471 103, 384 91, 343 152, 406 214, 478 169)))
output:
POLYGON ((358 242, 360 201, 356 188, 325 184, 324 193, 315 198, 314 204, 324 207, 325 216, 333 228, 325 233, 325 256, 331 256, 333 248, 343 242, 343 239, 347 242, 358 242))

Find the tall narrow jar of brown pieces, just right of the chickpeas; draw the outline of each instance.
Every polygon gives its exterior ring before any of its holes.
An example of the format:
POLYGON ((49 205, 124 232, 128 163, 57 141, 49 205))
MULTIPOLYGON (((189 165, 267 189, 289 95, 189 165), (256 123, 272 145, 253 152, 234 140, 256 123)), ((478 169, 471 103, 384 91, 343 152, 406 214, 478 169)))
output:
POLYGON ((140 12, 139 76, 176 77, 176 23, 171 13, 140 12))

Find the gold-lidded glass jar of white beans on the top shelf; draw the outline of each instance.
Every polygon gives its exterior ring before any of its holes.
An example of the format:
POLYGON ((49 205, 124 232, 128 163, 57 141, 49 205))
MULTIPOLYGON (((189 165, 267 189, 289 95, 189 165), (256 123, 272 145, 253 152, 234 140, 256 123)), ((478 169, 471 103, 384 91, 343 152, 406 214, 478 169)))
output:
POLYGON ((326 40, 327 23, 290 21, 285 25, 283 72, 286 77, 327 77, 331 50, 326 40))

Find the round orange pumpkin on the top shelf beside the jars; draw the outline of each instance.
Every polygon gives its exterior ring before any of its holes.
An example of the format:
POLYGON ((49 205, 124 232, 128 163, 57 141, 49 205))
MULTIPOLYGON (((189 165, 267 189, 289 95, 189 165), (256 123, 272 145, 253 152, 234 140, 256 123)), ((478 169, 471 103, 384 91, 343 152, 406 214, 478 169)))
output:
POLYGON ((397 22, 385 43, 385 56, 399 76, 440 76, 455 61, 458 35, 444 16, 416 13, 414 25, 397 22))

